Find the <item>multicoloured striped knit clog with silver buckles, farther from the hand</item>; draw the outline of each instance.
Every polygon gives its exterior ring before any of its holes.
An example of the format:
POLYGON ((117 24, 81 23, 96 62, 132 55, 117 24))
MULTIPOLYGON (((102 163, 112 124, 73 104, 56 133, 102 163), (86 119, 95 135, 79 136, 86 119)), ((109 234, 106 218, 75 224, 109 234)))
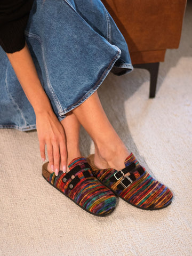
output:
POLYGON ((159 210, 170 205, 173 194, 155 180, 131 153, 125 159, 125 168, 99 170, 94 166, 94 155, 87 158, 95 177, 127 203, 143 210, 159 210), (125 175, 126 174, 126 175, 125 175))

